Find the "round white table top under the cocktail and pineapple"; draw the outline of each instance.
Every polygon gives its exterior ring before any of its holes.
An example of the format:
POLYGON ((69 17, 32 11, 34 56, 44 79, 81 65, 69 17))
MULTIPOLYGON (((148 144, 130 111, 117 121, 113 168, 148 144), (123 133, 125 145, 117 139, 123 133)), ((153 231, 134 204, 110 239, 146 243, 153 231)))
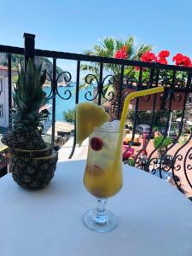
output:
POLYGON ((96 207, 83 186, 84 161, 58 163, 49 186, 21 189, 0 179, 0 256, 191 256, 192 203, 169 183, 124 166, 124 187, 108 200, 119 226, 96 233, 82 223, 96 207))

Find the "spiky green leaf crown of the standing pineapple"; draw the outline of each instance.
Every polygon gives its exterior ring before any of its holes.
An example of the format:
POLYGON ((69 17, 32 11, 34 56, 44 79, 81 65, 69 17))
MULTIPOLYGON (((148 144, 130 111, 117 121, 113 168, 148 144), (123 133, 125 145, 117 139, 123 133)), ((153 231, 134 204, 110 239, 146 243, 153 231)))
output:
POLYGON ((46 79, 46 70, 43 74, 41 71, 42 65, 36 67, 31 59, 27 62, 26 71, 24 67, 20 68, 13 95, 15 110, 12 112, 12 124, 14 130, 34 131, 44 119, 39 109, 47 102, 46 93, 42 89, 46 79))

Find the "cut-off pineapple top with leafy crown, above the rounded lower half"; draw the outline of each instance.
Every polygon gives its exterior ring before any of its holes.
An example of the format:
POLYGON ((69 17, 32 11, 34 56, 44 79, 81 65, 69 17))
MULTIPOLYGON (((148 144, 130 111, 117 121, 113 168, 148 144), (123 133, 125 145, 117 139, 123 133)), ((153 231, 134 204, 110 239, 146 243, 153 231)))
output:
POLYGON ((46 101, 46 94, 42 90, 46 78, 46 71, 41 75, 41 66, 35 67, 32 60, 28 61, 26 72, 21 67, 16 84, 14 110, 12 111, 12 129, 4 135, 2 143, 9 148, 37 150, 46 148, 41 137, 42 113, 39 113, 46 101))

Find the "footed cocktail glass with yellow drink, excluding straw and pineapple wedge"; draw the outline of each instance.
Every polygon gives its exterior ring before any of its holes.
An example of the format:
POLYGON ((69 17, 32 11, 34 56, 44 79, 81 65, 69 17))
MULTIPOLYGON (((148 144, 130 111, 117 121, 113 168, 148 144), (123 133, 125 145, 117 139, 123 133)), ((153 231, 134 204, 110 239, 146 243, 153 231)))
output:
POLYGON ((123 185, 122 142, 119 143, 119 123, 106 123, 89 138, 88 157, 84 171, 84 186, 97 198, 97 207, 84 214, 83 222, 90 230, 108 232, 118 224, 116 216, 105 209, 109 197, 123 185))

